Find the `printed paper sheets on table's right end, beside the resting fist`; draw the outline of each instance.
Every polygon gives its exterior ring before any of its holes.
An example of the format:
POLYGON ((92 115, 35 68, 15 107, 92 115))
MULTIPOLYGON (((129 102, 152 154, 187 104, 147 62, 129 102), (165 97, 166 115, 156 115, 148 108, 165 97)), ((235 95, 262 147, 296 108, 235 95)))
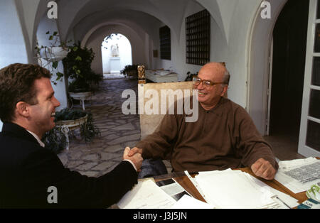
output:
POLYGON ((280 161, 274 179, 294 193, 309 190, 311 185, 320 185, 320 161, 312 157, 280 161))

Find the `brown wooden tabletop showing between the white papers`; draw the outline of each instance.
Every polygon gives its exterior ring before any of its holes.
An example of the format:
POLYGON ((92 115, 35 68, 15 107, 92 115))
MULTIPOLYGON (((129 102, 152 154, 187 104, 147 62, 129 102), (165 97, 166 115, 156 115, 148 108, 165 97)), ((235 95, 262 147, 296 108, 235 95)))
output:
MULTIPOLYGON (((239 168, 239 169, 235 169, 235 170, 242 170, 243 172, 249 173, 250 175, 256 177, 255 174, 252 173, 252 170, 250 168, 239 168)), ((196 174, 191 174, 192 177, 194 177, 195 175, 196 174)), ((201 200, 203 202, 206 202, 206 200, 203 199, 201 194, 198 192, 196 187, 193 185, 191 180, 189 180, 189 178, 183 172, 169 173, 166 175, 156 176, 156 177, 154 177, 154 180, 157 182, 157 181, 166 180, 169 178, 174 178, 174 180, 176 180, 176 182, 178 182, 186 191, 188 191, 196 199, 201 200)), ((299 203, 302 203, 308 199, 306 197, 306 192, 299 192, 297 194, 294 194, 289 189, 287 189, 287 187, 284 187, 284 185, 279 183, 277 180, 264 180, 262 178, 258 178, 258 179, 261 180, 262 182, 266 183, 270 187, 273 187, 276 190, 279 190, 281 192, 284 192, 287 195, 290 195, 291 197, 294 197, 295 199, 298 200, 299 203)))

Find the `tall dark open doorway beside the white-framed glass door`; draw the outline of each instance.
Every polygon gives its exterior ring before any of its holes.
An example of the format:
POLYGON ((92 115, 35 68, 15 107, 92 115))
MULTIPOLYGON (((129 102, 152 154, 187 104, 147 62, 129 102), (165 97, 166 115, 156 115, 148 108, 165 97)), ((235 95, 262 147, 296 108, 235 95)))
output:
POLYGON ((289 0, 273 31, 270 136, 298 151, 309 0, 289 0))

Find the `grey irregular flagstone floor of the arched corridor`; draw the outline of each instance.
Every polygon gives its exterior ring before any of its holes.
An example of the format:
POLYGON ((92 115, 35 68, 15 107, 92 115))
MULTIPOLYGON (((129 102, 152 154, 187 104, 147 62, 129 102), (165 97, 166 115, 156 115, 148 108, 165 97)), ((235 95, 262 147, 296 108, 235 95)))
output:
MULTIPOLYGON (((139 115, 122 113, 122 103, 126 100, 122 98, 124 89, 133 89, 138 95, 137 79, 107 79, 100 83, 100 90, 92 97, 92 104, 86 103, 85 108, 92 112, 101 136, 91 143, 70 138, 70 149, 58 155, 66 167, 83 175, 103 175, 122 161, 126 146, 132 148, 139 141, 139 115)), ((80 105, 78 108, 81 109, 80 105)), ((276 137, 268 136, 266 140, 274 146, 274 153, 280 160, 302 157, 292 146, 291 139, 279 141, 276 137)), ((165 163, 170 171, 170 163, 165 163)))

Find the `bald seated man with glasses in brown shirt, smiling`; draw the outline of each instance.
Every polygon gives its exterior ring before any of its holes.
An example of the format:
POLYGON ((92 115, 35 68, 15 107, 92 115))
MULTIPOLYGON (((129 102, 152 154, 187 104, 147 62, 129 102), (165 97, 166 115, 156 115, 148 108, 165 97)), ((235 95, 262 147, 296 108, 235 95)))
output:
POLYGON ((129 156, 141 153, 145 159, 164 159, 170 154, 174 171, 250 167, 255 175, 272 180, 278 168, 272 148, 245 109, 223 97, 229 80, 228 70, 220 63, 204 65, 193 77, 193 89, 198 89, 201 105, 198 121, 186 122, 186 114, 167 114, 129 156))

